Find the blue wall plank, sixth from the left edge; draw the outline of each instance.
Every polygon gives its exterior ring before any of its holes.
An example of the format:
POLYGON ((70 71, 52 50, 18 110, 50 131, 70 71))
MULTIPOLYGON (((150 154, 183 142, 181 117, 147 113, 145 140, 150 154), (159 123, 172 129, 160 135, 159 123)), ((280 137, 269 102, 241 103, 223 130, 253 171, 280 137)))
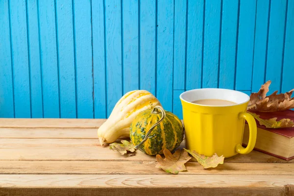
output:
POLYGON ((77 118, 94 118, 91 1, 73 0, 77 118))

